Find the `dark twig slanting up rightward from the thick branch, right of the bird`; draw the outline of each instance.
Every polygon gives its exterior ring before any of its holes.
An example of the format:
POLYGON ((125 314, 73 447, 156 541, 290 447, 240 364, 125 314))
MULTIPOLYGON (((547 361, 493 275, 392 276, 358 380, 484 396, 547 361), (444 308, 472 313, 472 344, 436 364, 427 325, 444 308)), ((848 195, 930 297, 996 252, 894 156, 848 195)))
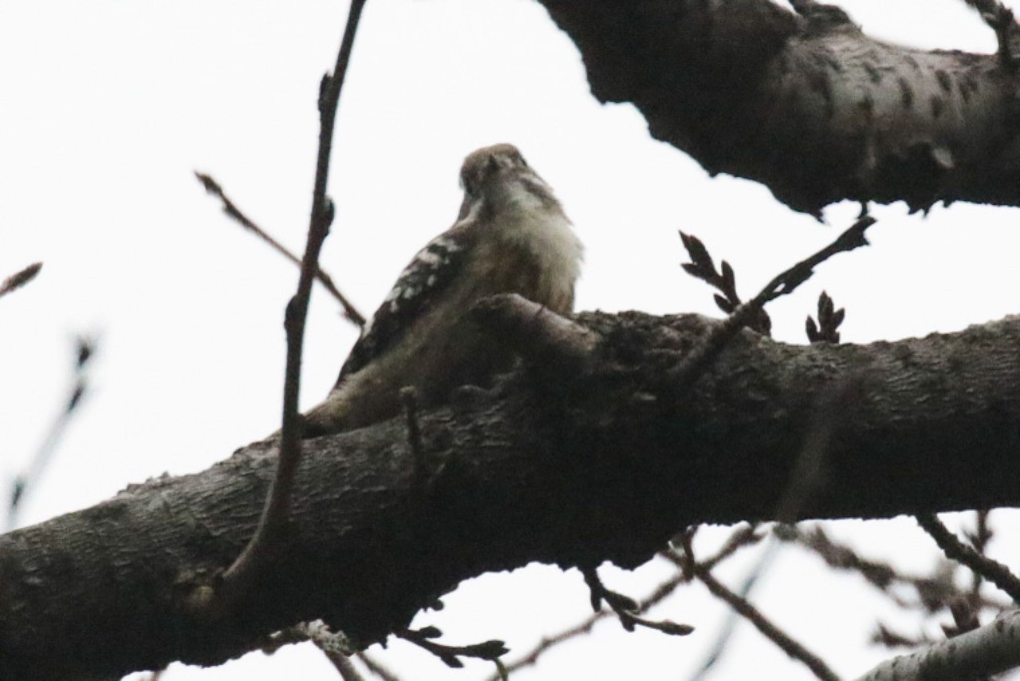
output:
POLYGON ((836 253, 851 251, 860 246, 867 246, 868 241, 864 238, 864 232, 874 225, 875 222, 875 218, 870 215, 858 220, 831 244, 780 274, 770 281, 753 299, 734 309, 732 314, 726 318, 722 324, 716 326, 670 371, 669 378, 674 389, 684 390, 690 387, 711 366, 719 353, 725 349, 729 341, 744 327, 748 326, 749 322, 756 319, 758 310, 765 303, 787 293, 793 293, 798 286, 811 277, 815 266, 836 253))

